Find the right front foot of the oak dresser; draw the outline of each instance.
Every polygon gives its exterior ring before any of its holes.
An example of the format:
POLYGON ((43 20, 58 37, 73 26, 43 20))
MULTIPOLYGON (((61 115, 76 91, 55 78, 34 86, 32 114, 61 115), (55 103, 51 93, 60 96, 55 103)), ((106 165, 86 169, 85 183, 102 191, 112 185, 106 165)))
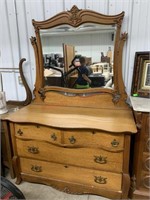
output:
POLYGON ((122 199, 128 199, 129 188, 130 188, 129 174, 123 174, 122 199))

